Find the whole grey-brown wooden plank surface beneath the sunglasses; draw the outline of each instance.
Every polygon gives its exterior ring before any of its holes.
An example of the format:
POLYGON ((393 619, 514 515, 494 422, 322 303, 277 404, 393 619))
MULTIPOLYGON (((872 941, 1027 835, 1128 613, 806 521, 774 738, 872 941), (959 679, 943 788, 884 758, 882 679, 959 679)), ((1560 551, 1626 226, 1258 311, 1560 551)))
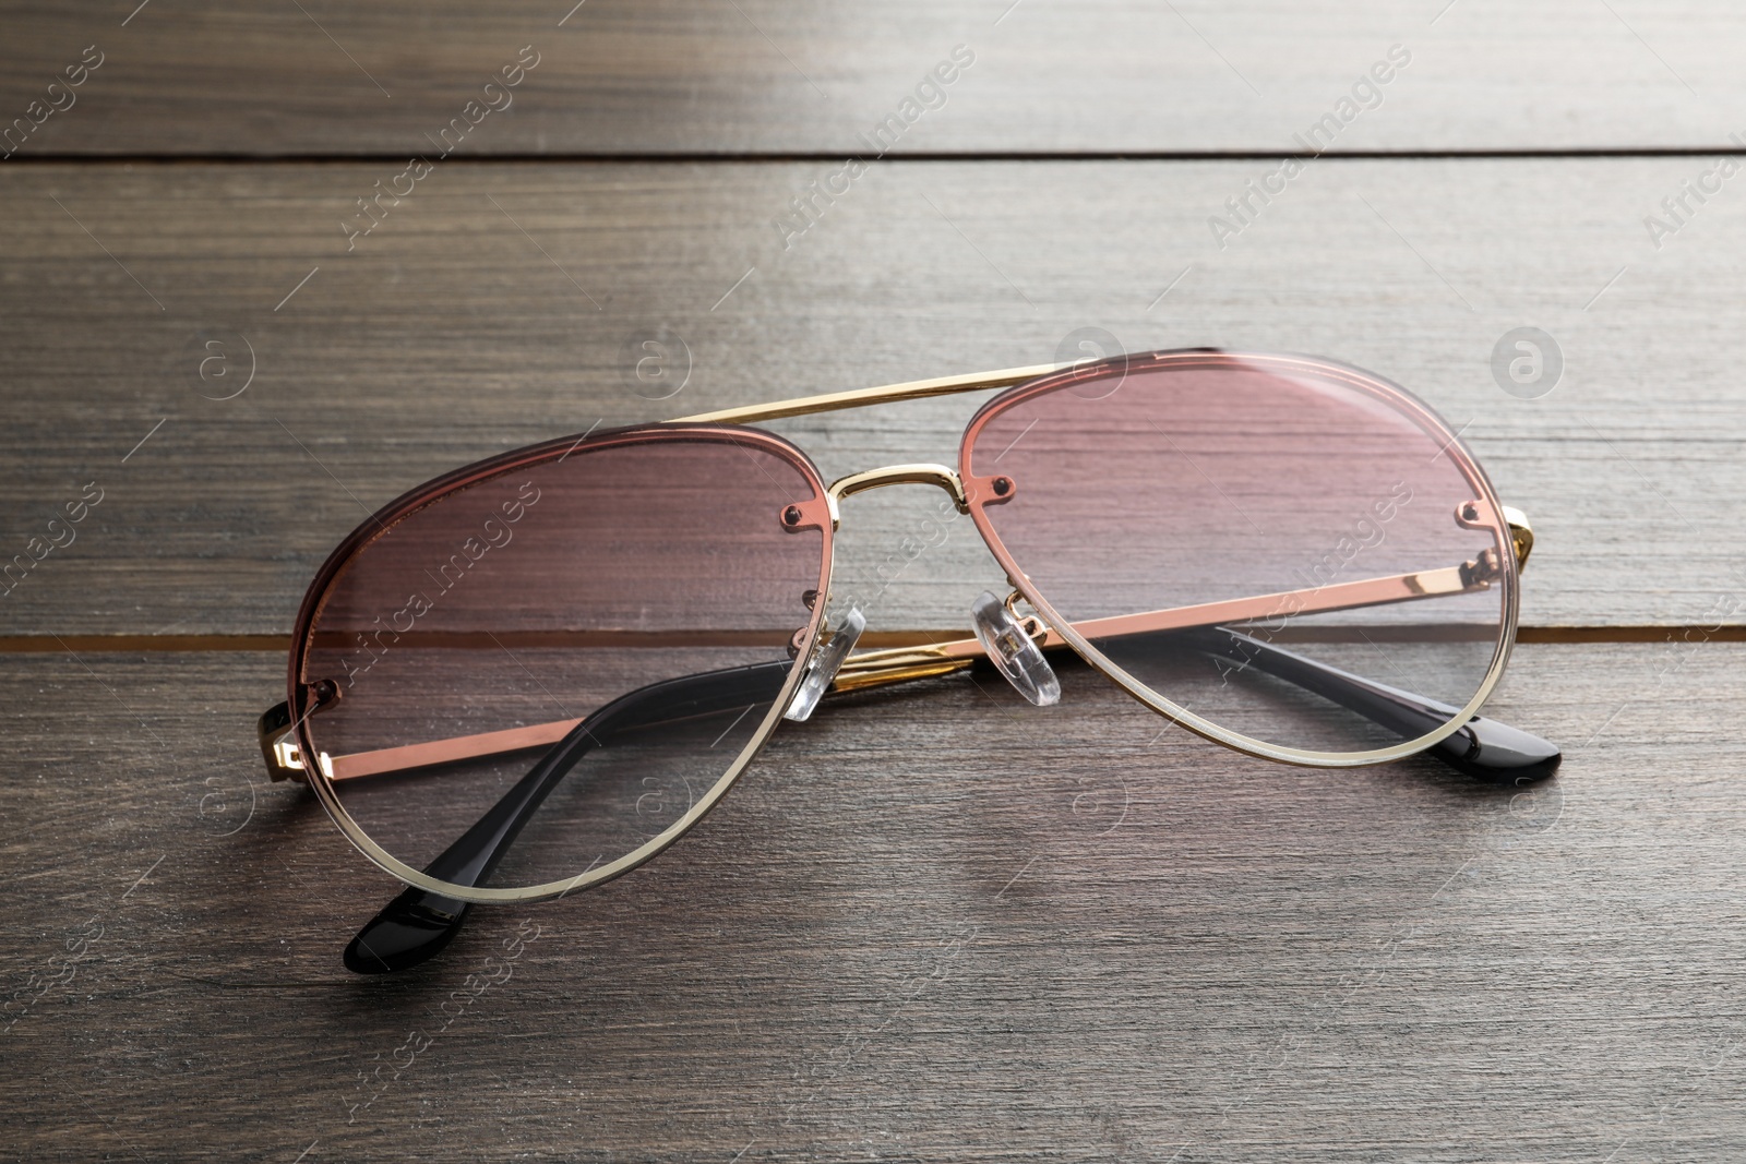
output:
MULTIPOLYGON (((5 1155, 1746 1152, 1734 7, 131 7, 0 5, 0 557, 101 494, 0 602, 5 1155), (1084 670, 1048 712, 948 677, 784 729, 630 878, 340 969, 393 887, 265 782, 253 717, 363 513, 597 422, 1044 363, 1079 326, 1325 353, 1460 426, 1540 536, 1488 707, 1559 778, 1290 770, 1084 670), (1563 353, 1538 398, 1491 373, 1517 326, 1563 353), (670 400, 625 363, 651 330, 690 351, 670 400)), ((773 428, 829 476, 950 461, 974 403, 773 428)), ((875 628, 962 625, 969 531, 910 560, 934 496, 856 506, 842 574, 901 558, 875 628)))

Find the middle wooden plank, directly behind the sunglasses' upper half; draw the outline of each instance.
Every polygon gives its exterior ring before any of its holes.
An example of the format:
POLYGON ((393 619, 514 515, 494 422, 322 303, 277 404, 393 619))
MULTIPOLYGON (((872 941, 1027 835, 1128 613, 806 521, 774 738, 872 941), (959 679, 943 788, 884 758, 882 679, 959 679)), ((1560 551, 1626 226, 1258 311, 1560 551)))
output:
MULTIPOLYGON (((1536 524, 1529 625, 1746 621, 1746 398, 1704 309, 1746 293, 1746 204, 1711 199, 1660 250, 1641 223, 1690 159, 1322 162, 1224 250, 1206 218, 1257 164, 887 164, 787 250, 770 216, 817 166, 471 166, 347 253, 340 218, 384 173, 3 173, 5 557, 103 497, 3 599, 7 633, 285 633, 365 511, 452 466, 1042 363, 1083 326, 1131 351, 1322 353, 1419 393, 1536 524), (1563 351, 1538 400, 1491 368, 1523 325, 1563 351), (690 353, 669 400, 627 358, 656 332, 690 353)), ((950 462, 974 403, 773 428, 828 476, 950 462)), ((875 630, 962 625, 999 585, 967 524, 910 560, 939 501, 847 503, 845 585, 897 576, 875 630)))

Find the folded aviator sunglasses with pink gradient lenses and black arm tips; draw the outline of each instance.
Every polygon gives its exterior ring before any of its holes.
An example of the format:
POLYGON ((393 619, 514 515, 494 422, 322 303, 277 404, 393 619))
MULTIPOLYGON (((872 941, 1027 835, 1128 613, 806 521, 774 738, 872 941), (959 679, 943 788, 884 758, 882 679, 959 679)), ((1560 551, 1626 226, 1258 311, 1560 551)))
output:
POLYGON ((1329 359, 1163 351, 728 408, 508 452, 382 508, 311 583, 260 743, 407 885, 346 949, 381 974, 473 904, 636 869, 828 695, 992 667, 1048 705, 1069 647, 1250 756, 1540 780, 1559 750, 1475 714, 1531 546, 1435 412, 1329 359), (1006 391, 955 469, 826 483, 746 428, 983 389, 1006 391), (843 501, 901 483, 946 490, 1009 592, 971 604, 974 633, 856 653, 833 536, 843 501))

